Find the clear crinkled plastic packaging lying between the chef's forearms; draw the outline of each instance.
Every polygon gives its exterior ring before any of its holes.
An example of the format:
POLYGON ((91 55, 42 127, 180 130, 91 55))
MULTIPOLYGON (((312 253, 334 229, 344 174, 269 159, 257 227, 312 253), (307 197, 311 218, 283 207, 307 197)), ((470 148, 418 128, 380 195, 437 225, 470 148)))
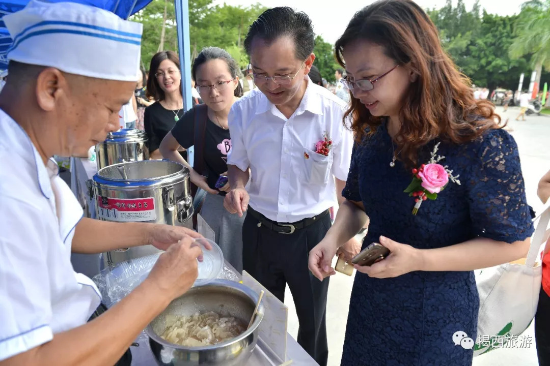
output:
POLYGON ((130 294, 149 275, 160 253, 118 263, 103 269, 93 280, 103 297, 103 303, 111 307, 130 294))

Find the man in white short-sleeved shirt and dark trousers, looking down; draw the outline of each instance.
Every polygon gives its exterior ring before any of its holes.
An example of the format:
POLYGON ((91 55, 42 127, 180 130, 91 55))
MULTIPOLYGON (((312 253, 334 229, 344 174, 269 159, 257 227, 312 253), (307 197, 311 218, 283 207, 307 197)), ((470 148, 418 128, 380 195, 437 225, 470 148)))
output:
MULTIPOLYGON (((348 176, 353 136, 342 122, 345 103, 307 77, 315 41, 306 14, 287 7, 266 10, 244 44, 257 89, 229 114, 228 174, 234 189, 224 205, 239 215, 247 211, 244 270, 281 301, 289 285, 300 322, 298 342, 324 366, 328 281, 313 277, 307 258, 331 226, 329 208, 342 200, 348 176), (317 153, 324 137, 331 148, 317 153)), ((359 250, 355 240, 346 244, 349 258, 359 250)))

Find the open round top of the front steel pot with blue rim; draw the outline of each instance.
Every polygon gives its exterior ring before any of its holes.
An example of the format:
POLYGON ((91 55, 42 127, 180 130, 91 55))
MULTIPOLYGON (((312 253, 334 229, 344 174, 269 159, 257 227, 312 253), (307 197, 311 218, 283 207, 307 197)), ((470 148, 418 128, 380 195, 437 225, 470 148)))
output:
POLYGON ((96 183, 120 187, 163 185, 188 178, 188 168, 168 160, 123 162, 102 168, 94 175, 96 183))

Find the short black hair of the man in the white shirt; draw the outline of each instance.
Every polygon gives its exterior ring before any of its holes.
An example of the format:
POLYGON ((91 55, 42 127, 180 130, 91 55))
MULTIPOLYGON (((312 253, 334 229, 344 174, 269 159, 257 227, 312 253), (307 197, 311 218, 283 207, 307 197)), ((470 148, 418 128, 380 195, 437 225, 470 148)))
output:
POLYGON ((315 33, 311 19, 306 13, 295 12, 289 7, 267 9, 260 14, 248 28, 244 48, 250 56, 254 37, 260 37, 266 43, 271 43, 285 36, 294 41, 297 59, 305 60, 313 52, 315 33))

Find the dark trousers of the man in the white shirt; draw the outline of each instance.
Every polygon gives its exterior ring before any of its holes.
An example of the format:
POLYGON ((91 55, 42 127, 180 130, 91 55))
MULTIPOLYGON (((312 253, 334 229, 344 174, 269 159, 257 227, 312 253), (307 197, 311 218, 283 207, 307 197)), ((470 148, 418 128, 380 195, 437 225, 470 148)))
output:
POLYGON ((284 301, 288 283, 300 323, 298 344, 318 364, 326 366, 328 278, 320 281, 313 277, 307 261, 309 251, 324 238, 331 226, 331 217, 325 215, 293 234, 280 234, 264 225, 258 227, 258 223, 258 219, 250 213, 246 215, 243 224, 243 269, 281 301, 284 301))

